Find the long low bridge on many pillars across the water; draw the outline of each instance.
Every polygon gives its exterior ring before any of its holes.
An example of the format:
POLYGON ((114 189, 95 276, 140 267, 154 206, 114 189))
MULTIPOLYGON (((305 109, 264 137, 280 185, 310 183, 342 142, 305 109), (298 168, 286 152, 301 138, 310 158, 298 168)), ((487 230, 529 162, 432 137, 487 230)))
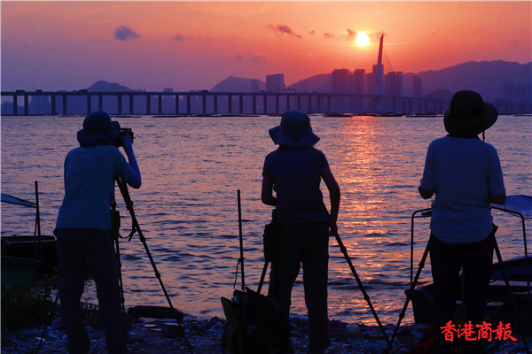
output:
MULTIPOLYGON (((364 113, 379 100, 387 113, 441 114, 449 100, 361 94, 296 92, 64 92, 3 91, 3 115, 68 115, 107 111, 110 114, 217 115, 279 114, 289 110, 307 113, 364 113), (369 103, 369 104, 368 104, 369 103), (21 104, 21 105, 20 105, 21 104)), ((496 104, 499 114, 532 112, 532 104, 496 104)), ((376 112, 379 113, 379 112, 376 112)), ((380 112, 383 113, 383 112, 380 112)))

